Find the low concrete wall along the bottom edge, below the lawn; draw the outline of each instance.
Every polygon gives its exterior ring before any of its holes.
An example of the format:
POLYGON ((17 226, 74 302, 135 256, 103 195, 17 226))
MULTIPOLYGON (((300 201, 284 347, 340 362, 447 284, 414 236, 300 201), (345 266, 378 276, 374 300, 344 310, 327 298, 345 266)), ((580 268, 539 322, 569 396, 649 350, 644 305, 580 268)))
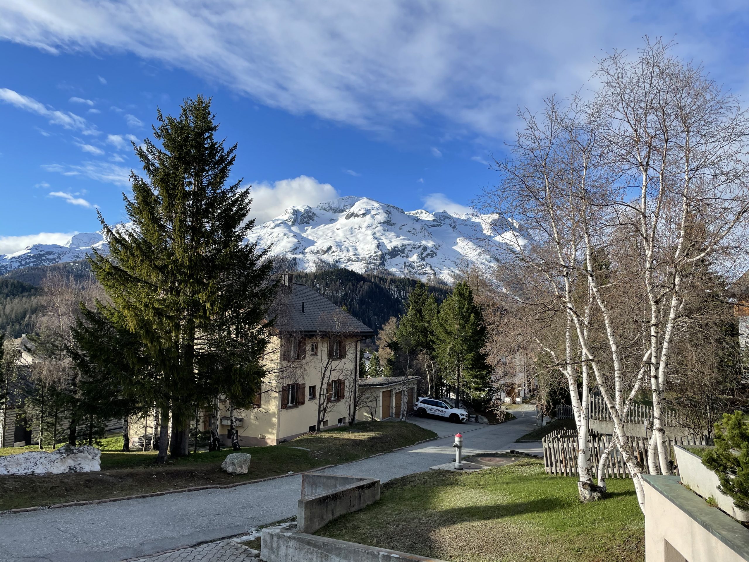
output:
POLYGON ((264 529, 260 542, 260 558, 266 562, 443 562, 437 558, 280 529, 264 529))

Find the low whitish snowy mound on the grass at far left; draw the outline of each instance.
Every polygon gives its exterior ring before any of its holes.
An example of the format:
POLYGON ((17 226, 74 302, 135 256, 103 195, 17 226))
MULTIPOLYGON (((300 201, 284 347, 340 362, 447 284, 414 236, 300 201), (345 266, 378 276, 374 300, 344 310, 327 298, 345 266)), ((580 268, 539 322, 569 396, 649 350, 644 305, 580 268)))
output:
POLYGON ((98 472, 101 451, 91 445, 65 445, 54 451, 29 451, 0 457, 0 474, 98 472))

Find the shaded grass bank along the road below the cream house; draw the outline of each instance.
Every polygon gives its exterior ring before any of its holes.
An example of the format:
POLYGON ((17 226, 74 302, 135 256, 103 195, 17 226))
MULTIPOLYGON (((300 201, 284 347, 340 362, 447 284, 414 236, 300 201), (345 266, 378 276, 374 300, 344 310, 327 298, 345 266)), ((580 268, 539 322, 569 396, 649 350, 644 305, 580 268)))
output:
MULTIPOLYGON (((118 498, 170 489, 239 483, 301 472, 324 465, 351 462, 375 453, 405 447, 436 434, 413 423, 362 422, 318 435, 303 435, 275 447, 245 447, 250 453, 249 474, 226 474, 223 459, 231 448, 198 452, 184 459, 155 465, 156 453, 121 453, 122 438, 103 440, 101 472, 0 476, 0 511, 52 505, 67 501, 118 498), (303 447, 303 449, 295 448, 303 447)), ((37 447, 0 449, 0 456, 37 450, 37 447)))

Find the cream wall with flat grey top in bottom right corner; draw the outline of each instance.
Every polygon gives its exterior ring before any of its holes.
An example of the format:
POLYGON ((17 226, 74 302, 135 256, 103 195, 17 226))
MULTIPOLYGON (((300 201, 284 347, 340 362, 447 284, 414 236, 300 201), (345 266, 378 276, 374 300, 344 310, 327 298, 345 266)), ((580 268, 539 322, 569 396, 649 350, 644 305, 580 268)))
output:
POLYGON ((646 562, 749 562, 749 529, 682 486, 643 475, 646 562))

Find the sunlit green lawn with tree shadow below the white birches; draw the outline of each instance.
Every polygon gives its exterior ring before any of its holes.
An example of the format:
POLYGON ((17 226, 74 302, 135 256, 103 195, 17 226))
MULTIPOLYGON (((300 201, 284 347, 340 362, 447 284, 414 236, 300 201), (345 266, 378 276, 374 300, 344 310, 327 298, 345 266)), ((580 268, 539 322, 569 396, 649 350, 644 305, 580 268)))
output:
POLYGON ((341 540, 449 561, 626 561, 645 558, 631 480, 581 504, 574 478, 541 462, 470 474, 429 471, 391 480, 376 504, 318 531, 341 540))

